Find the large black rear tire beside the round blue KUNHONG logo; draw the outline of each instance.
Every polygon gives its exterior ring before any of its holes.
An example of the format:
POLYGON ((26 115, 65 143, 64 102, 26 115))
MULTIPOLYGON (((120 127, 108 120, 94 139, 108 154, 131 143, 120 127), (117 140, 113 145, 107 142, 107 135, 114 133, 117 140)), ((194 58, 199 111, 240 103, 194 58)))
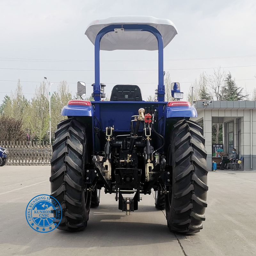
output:
POLYGON ((75 118, 58 124, 52 145, 51 196, 62 208, 57 228, 70 232, 83 230, 89 219, 91 192, 85 191, 84 185, 86 149, 84 125, 75 118))

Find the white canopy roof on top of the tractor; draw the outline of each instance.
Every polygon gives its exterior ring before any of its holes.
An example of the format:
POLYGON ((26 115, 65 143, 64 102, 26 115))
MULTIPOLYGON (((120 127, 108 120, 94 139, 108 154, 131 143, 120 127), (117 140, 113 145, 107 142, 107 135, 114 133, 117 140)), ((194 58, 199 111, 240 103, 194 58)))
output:
MULTIPOLYGON (((156 19, 151 16, 115 16, 94 20, 87 27, 85 35, 94 44, 100 30, 109 25, 146 24, 156 28, 163 37, 164 47, 177 35, 177 29, 171 20, 156 19)), ((109 32, 100 41, 100 50, 157 50, 156 37, 147 31, 109 32)))

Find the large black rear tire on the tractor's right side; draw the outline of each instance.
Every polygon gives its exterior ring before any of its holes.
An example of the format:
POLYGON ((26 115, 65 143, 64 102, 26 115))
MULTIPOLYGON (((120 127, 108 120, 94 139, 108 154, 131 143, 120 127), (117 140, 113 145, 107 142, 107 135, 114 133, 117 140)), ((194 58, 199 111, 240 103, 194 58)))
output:
POLYGON ((165 195, 168 227, 194 234, 203 228, 207 194, 207 152, 203 129, 190 120, 173 125, 171 135, 172 187, 165 195))

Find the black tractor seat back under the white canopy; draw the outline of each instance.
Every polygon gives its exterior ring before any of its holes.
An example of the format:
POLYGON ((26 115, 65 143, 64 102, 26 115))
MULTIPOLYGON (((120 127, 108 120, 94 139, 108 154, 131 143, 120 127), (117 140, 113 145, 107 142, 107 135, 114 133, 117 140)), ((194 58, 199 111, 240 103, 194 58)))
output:
POLYGON ((111 92, 110 101, 142 101, 140 87, 117 84, 111 92))

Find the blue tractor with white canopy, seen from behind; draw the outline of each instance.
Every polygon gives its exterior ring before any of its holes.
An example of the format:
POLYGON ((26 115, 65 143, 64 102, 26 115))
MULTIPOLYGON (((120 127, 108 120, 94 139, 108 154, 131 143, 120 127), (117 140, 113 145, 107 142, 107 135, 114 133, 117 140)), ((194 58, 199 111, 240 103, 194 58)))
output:
MULTIPOLYGON (((164 101, 164 47, 177 34, 170 20, 111 17, 93 21, 85 32, 95 46, 94 101, 71 100, 52 145, 51 192, 61 204, 58 228, 83 230, 100 189, 114 194, 118 209, 130 214, 141 195, 155 191, 155 206, 165 209, 172 232, 193 234, 203 228, 207 168, 203 130, 190 117, 196 109, 181 101, 172 83, 164 101), (158 50, 157 101, 143 101, 137 85, 117 84, 110 101, 100 83, 100 50, 158 50)), ((85 84, 77 83, 78 95, 85 84)))

